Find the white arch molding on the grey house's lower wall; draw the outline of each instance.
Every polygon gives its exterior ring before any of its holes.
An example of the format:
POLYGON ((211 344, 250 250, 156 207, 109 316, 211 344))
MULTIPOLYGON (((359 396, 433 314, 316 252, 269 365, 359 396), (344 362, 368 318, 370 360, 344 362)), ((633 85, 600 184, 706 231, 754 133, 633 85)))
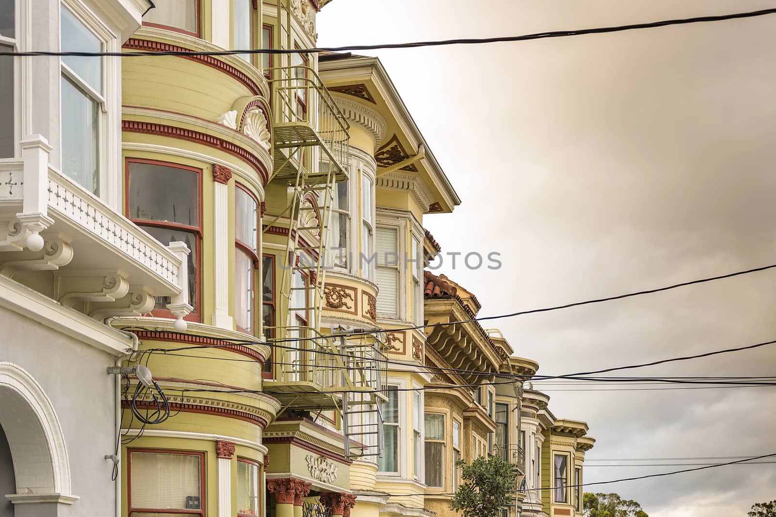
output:
POLYGON ((70 464, 62 428, 43 388, 17 364, 0 361, 0 425, 13 459, 15 504, 71 505, 70 464))

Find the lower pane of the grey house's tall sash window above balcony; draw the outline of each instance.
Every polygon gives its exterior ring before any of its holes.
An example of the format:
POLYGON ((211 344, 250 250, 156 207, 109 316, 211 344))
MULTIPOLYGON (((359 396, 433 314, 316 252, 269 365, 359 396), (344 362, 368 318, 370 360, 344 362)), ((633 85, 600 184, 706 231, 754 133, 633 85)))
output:
POLYGON ((99 105, 68 78, 62 76, 61 82, 62 173, 97 194, 99 105))

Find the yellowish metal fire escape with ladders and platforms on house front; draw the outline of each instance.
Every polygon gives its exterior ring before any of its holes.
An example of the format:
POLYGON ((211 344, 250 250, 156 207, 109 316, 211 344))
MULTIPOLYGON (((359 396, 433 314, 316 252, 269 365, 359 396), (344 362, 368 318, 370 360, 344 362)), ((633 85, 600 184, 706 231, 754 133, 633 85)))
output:
MULTIPOLYGON (((276 48, 293 48, 290 0, 278 2, 276 48)), ((311 57, 275 54, 272 85, 271 181, 290 191, 289 232, 281 257, 280 295, 285 326, 275 327, 274 378, 265 391, 290 411, 337 410, 348 457, 381 456, 386 400, 385 356, 379 339, 327 336, 320 332, 325 257, 334 185, 348 180, 349 124, 313 67, 311 57)), ((274 223, 274 222, 273 222, 274 223)), ((272 226, 273 223, 266 226, 272 226)))

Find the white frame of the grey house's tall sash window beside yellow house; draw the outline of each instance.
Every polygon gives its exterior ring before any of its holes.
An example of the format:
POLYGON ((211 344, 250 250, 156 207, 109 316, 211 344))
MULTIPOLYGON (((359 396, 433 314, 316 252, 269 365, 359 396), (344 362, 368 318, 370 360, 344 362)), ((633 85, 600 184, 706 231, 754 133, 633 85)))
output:
MULTIPOLYGON (((102 43, 102 50, 106 52, 119 52, 121 50, 119 35, 102 22, 99 15, 88 9, 81 2, 74 0, 61 0, 61 5, 69 9, 71 13, 81 23, 89 29, 94 36, 102 43)), ((57 12, 57 26, 60 23, 60 14, 57 12)), ((61 38, 61 31, 60 31, 61 38)), ((68 65, 60 59, 61 74, 70 79, 78 88, 88 92, 100 105, 99 116, 99 136, 97 146, 99 148, 98 167, 99 167, 99 191, 98 197, 110 205, 114 210, 121 209, 121 63, 120 57, 103 56, 102 60, 102 92, 95 91, 91 86, 78 77, 68 65)), ((61 81, 59 85, 59 99, 61 102, 61 81)), ((62 148, 62 127, 60 107, 60 142, 59 148, 62 148)), ((86 191, 86 189, 84 189, 86 191)), ((90 192, 91 194, 91 192, 90 192)))

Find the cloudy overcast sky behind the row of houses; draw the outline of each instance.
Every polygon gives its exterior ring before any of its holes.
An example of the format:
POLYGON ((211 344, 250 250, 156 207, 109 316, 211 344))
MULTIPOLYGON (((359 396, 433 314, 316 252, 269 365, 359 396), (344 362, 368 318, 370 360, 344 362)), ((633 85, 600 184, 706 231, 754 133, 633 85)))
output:
MULTIPOLYGON (((774 7, 755 0, 335 0, 319 43, 535 33, 774 7)), ((462 198, 425 219, 442 267, 495 315, 776 264, 776 15, 476 47, 380 50, 462 198)), ((501 320, 516 353, 566 374, 776 339, 776 271, 501 320)), ((643 375, 776 375, 776 346, 643 375)), ((538 386, 538 384, 537 384, 538 386)), ((548 386, 549 388, 549 386, 548 386)), ((588 458, 776 453, 776 388, 547 391, 586 420, 588 458)), ((673 470, 586 467, 586 481, 673 470)), ((591 487, 650 517, 746 515, 776 465, 591 487)))

